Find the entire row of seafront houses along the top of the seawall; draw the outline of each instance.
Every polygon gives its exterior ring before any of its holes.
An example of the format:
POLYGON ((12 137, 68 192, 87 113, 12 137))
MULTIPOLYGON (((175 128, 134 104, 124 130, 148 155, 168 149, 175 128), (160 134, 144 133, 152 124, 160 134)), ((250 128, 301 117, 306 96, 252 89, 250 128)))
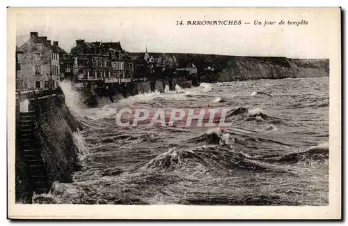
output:
POLYGON ((16 47, 16 89, 56 89, 61 80, 74 83, 124 83, 161 77, 196 75, 193 63, 178 68, 172 54, 152 57, 145 54, 129 54, 120 42, 86 42, 76 40, 70 53, 58 45, 31 32, 30 38, 16 47))

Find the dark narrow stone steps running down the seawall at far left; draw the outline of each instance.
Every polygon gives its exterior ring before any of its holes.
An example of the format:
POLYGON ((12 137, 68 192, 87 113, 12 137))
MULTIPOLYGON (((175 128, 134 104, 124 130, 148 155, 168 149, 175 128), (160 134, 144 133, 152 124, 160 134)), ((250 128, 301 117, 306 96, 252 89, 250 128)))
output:
POLYGON ((47 193, 49 190, 45 163, 42 160, 40 144, 35 137, 35 112, 20 112, 19 141, 23 146, 24 159, 28 166, 29 180, 35 193, 47 193))

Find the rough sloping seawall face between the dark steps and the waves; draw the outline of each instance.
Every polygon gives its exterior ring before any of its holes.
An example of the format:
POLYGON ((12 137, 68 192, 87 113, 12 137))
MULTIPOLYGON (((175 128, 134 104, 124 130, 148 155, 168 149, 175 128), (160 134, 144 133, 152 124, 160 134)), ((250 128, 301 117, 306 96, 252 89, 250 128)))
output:
POLYGON ((77 163, 77 146, 72 133, 77 123, 64 103, 63 95, 38 98, 36 136, 41 147, 50 183, 72 182, 72 172, 77 163))

